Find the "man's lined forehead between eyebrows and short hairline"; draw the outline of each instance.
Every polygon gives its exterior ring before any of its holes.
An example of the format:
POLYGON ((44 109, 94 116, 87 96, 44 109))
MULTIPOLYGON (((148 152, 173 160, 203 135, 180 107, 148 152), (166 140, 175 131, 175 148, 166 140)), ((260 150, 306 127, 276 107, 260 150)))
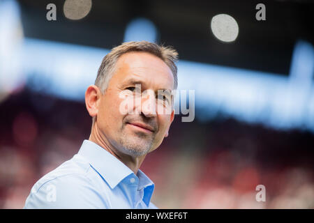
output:
POLYGON ((119 79, 119 83, 135 79, 150 87, 154 85, 159 89, 174 88, 174 77, 170 68, 162 59, 147 52, 128 52, 121 55, 112 78, 119 79))

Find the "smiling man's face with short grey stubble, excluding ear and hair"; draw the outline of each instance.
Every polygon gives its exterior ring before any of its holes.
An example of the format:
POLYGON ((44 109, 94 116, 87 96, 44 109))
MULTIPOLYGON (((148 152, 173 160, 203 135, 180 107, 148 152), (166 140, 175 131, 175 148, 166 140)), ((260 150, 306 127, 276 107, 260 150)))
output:
MULTIPOLYGON (((169 109, 170 105, 158 98, 158 90, 172 91, 173 87, 174 77, 170 68, 157 56, 147 52, 128 52, 120 56, 98 105, 97 125, 102 137, 120 153, 133 157, 146 155, 158 148, 163 138, 167 137, 174 118, 171 109, 171 114, 158 113, 167 106, 169 109), (142 97, 136 99, 137 102, 140 100, 139 105, 135 102, 135 95, 143 91, 142 97), (121 112, 121 103, 128 101, 133 101, 133 105, 128 107, 126 114, 121 112)), ((170 103, 171 98, 168 95, 170 103)))

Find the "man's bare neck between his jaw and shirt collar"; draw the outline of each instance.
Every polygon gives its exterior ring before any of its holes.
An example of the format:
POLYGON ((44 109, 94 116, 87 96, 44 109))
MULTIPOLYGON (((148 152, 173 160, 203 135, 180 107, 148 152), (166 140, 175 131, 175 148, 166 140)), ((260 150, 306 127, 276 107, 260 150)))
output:
POLYGON ((97 122, 95 122, 91 127, 89 141, 93 141, 95 144, 114 155, 114 157, 117 157, 117 159, 130 168, 135 173, 135 175, 137 174, 138 169, 140 169, 140 165, 146 156, 142 155, 140 157, 133 157, 131 155, 121 153, 119 150, 117 150, 117 148, 114 148, 114 146, 110 144, 110 141, 107 140, 104 134, 101 134, 100 130, 98 129, 97 122))

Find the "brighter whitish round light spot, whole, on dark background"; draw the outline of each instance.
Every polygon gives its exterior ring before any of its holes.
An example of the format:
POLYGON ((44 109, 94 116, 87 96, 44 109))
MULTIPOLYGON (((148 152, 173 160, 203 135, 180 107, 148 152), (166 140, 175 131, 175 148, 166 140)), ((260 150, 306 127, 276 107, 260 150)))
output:
POLYGON ((239 34, 239 26, 230 15, 219 14, 211 19, 211 31, 218 40, 232 42, 239 34))

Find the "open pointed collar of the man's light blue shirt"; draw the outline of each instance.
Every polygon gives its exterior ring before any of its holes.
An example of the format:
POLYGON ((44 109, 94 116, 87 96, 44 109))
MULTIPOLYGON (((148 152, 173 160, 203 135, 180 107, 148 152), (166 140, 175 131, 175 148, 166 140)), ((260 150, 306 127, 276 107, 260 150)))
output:
MULTIPOLYGON (((89 161, 89 164, 106 180, 111 189, 116 187, 121 180, 130 174, 135 175, 134 172, 123 162, 118 160, 117 157, 114 157, 114 155, 98 146, 93 141, 84 140, 78 154, 89 161)), ((154 191, 154 183, 140 169, 137 171, 136 176, 139 180, 138 190, 144 188, 144 194, 150 194, 150 196, 146 197, 146 200, 148 199, 149 202, 152 192, 154 191)))

